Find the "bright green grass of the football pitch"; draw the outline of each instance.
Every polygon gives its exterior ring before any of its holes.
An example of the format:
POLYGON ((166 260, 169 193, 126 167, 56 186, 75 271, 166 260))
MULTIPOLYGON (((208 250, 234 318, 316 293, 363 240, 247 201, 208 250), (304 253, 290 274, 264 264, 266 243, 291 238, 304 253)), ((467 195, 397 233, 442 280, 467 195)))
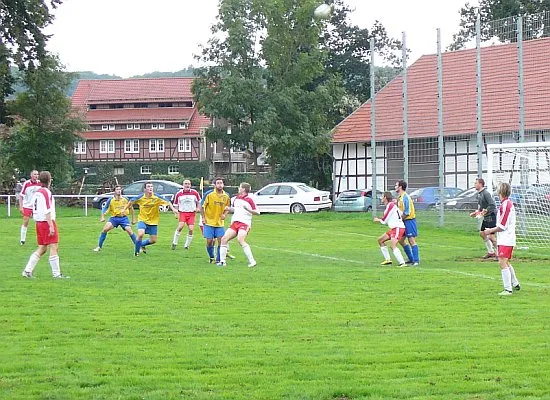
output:
MULTIPOLYGON (((255 217, 259 266, 170 250, 176 220, 134 258, 121 231, 60 210, 60 256, 0 209, 1 399, 550 399, 550 256, 518 251, 508 298, 475 226, 420 225, 419 268, 380 267, 365 214, 255 217)), ((468 223, 473 223, 468 220, 468 223)), ((422 223, 422 220, 421 220, 422 223)), ((184 236, 182 235, 182 239, 184 236)))

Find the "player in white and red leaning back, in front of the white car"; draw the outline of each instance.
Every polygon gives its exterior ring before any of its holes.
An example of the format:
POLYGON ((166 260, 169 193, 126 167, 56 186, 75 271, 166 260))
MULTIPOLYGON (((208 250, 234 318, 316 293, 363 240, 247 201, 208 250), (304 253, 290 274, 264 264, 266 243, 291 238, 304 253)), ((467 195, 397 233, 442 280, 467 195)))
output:
POLYGON ((233 213, 233 217, 231 218, 231 226, 225 231, 221 240, 218 266, 225 266, 229 241, 235 239, 235 237, 243 248, 246 258, 248 258, 248 266, 250 268, 256 266, 256 260, 254 260, 250 245, 246 243, 246 236, 252 226, 252 215, 259 215, 260 211, 256 209, 256 204, 248 196, 248 193, 250 193, 250 184, 246 182, 241 183, 239 185, 239 194, 233 199, 233 204, 231 204, 231 207, 225 208, 224 218, 227 213, 233 213))

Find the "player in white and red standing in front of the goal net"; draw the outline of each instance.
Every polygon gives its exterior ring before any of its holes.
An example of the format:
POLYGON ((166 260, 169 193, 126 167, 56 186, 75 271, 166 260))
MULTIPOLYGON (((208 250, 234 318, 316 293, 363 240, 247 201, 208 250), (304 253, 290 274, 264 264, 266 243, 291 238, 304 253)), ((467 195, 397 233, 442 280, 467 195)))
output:
POLYGON ((499 293, 500 296, 511 295, 512 289, 520 290, 516 271, 510 264, 516 245, 516 209, 512 200, 509 199, 511 193, 512 187, 509 183, 502 182, 498 185, 500 207, 497 213, 497 226, 485 230, 487 234, 495 232, 497 234, 498 264, 504 285, 504 290, 499 293))

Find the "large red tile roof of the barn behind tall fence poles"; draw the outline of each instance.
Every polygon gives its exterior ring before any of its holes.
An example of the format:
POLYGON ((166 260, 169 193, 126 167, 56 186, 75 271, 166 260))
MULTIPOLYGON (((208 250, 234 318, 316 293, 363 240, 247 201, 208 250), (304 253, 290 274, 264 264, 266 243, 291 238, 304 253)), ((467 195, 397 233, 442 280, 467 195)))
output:
MULTIPOLYGON (((483 132, 519 130, 517 44, 484 47, 482 65, 483 132)), ((523 42, 525 130, 550 129, 550 38, 523 42)), ((477 129, 476 50, 444 53, 443 131, 470 135, 477 129)), ((409 137, 433 137, 437 126, 437 56, 418 59, 407 71, 409 137)), ((376 137, 403 136, 403 77, 375 98, 376 137)), ((333 130, 333 143, 371 139, 371 102, 364 103, 333 130)))

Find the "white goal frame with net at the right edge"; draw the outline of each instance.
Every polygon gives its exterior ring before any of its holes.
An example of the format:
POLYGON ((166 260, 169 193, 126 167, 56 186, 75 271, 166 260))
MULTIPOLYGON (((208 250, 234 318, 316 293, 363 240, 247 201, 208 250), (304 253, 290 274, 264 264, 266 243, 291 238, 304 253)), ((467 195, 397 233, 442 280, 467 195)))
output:
POLYGON ((500 182, 512 186, 517 247, 550 248, 550 143, 487 146, 487 188, 500 182))

